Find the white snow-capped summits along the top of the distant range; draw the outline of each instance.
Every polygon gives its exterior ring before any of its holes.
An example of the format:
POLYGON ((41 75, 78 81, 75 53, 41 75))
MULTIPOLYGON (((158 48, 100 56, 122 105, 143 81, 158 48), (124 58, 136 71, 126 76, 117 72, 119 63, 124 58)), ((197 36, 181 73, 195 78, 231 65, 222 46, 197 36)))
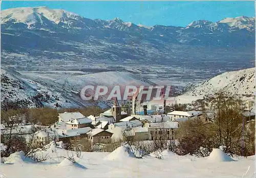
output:
MULTIPOLYGON (((63 9, 49 9, 46 6, 35 8, 13 8, 2 11, 2 24, 11 22, 13 24, 23 23, 28 28, 50 27, 58 25, 63 28, 91 29, 91 28, 112 28, 119 30, 149 30, 154 31, 158 26, 144 27, 131 22, 124 22, 120 18, 113 20, 88 19, 78 14, 68 12, 63 9)), ((254 18, 240 16, 236 18, 224 18, 216 23, 208 20, 197 20, 190 23, 187 28, 208 28, 212 31, 218 30, 216 27, 231 29, 254 30, 254 18), (230 27, 230 28, 228 28, 230 27)), ((165 29, 168 27, 162 26, 165 29)), ((183 29, 183 28, 181 28, 183 29)))

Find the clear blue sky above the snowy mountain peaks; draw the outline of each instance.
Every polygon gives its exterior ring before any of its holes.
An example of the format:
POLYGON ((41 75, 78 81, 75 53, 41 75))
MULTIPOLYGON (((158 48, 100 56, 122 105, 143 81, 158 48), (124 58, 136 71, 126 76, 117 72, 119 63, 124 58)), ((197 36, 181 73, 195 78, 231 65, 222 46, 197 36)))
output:
POLYGON ((119 17, 134 24, 184 27, 193 20, 219 21, 224 17, 254 16, 254 2, 2 2, 2 10, 47 6, 95 19, 119 17))

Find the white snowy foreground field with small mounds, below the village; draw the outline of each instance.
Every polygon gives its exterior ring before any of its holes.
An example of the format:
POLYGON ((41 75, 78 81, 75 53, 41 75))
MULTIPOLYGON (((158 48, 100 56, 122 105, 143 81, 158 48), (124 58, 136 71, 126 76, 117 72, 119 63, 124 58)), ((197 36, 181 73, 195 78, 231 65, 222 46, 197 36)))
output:
POLYGON ((136 159, 126 152, 124 147, 119 147, 112 153, 82 152, 80 158, 75 157, 75 164, 65 158, 59 158, 61 155, 67 157, 67 154, 75 154, 62 149, 61 146, 49 145, 47 151, 38 154, 46 153, 50 157, 41 163, 29 160, 22 152, 3 158, 5 164, 1 163, 1 174, 4 177, 255 177, 254 156, 235 157, 232 160, 220 149, 212 151, 206 158, 179 156, 166 150, 162 153, 162 159, 155 158, 154 154, 136 159))

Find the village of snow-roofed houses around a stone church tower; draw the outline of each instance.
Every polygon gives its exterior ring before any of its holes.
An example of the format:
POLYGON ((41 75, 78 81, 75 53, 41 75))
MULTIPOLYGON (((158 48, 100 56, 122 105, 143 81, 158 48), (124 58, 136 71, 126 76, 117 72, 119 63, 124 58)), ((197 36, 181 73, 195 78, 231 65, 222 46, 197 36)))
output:
MULTIPOLYGON (((249 122, 255 117, 254 102, 247 100, 245 105, 243 116, 249 122)), ((135 107, 133 104, 133 108, 135 107)), ((177 139, 176 130, 182 122, 194 119, 199 119, 202 124, 214 122, 214 113, 201 110, 172 110, 167 113, 165 107, 157 104, 141 105, 144 110, 137 114, 135 109, 124 108, 115 100, 113 106, 99 116, 84 116, 80 112, 63 112, 58 114, 57 122, 51 125, 31 125, 22 121, 14 127, 1 124, 1 132, 3 136, 8 134, 22 136, 27 143, 45 145, 51 141, 66 142, 67 139, 69 141, 79 139, 95 145, 121 143, 125 134, 133 136, 137 141, 174 141, 177 139), (149 114, 150 111, 151 114, 149 114)))

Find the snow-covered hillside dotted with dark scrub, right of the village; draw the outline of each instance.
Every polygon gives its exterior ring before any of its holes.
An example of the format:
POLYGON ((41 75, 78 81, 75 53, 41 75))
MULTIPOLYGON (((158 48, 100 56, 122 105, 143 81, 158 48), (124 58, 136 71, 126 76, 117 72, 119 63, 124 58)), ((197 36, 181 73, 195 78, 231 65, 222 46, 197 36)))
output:
POLYGON ((184 95, 207 96, 219 91, 232 96, 254 96, 255 68, 225 72, 204 82, 190 85, 184 95))

